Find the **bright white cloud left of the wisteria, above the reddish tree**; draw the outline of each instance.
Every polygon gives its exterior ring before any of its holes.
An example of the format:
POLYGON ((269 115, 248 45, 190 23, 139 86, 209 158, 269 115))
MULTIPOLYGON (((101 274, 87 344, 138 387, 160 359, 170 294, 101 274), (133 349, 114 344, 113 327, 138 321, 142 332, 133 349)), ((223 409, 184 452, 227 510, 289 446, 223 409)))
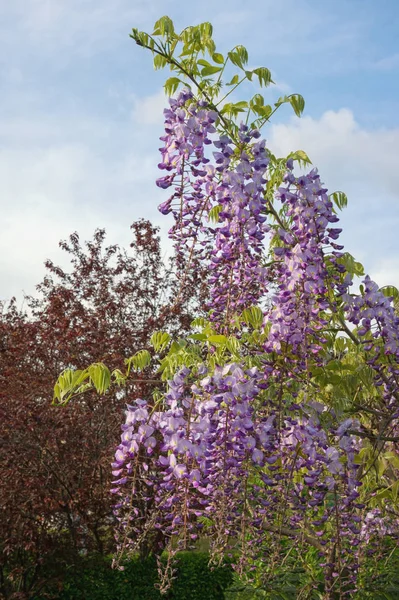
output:
POLYGON ((129 123, 107 133, 107 125, 83 120, 75 120, 75 135, 69 122, 58 129, 46 119, 26 128, 18 120, 0 123, 3 139, 16 140, 0 150, 0 299, 33 293, 44 261, 65 260, 58 242, 73 231, 90 239, 94 229, 106 227, 109 243, 128 246, 134 220, 158 221, 156 149, 153 155, 140 151, 129 123))

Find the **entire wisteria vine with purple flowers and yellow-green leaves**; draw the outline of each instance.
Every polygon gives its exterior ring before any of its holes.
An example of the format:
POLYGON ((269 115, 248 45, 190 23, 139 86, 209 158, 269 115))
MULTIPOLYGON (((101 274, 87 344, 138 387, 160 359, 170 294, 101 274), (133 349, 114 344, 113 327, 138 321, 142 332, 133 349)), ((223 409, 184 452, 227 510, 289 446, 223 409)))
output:
MULTIPOLYGON (((244 80, 271 75, 248 70, 242 46, 217 53, 210 24, 177 34, 164 17, 132 37, 178 75, 166 82, 159 210, 173 217, 181 289, 193 269, 204 277, 207 317, 168 349, 159 334, 163 384, 127 406, 112 464, 115 564, 166 551, 165 592, 176 553, 202 539, 211 561, 229 558, 267 589, 276 565, 311 549, 323 581, 312 575, 309 594, 355 597, 365 559, 398 539, 399 293, 368 276, 353 291, 362 268, 339 242, 342 200, 317 169, 297 174, 303 152, 277 159, 262 138, 282 104, 299 116, 299 95, 228 103, 244 80), (221 97, 229 66, 242 78, 221 97)), ((150 359, 143 350, 114 379, 150 359)), ((105 367, 91 369, 65 372, 56 397, 106 391, 105 367)))

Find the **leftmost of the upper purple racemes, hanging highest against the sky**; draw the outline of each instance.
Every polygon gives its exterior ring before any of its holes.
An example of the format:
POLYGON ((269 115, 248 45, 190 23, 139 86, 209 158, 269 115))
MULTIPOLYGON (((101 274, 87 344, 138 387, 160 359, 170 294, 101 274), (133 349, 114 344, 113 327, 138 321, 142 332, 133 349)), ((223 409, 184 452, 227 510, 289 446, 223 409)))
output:
POLYGON ((214 169, 205 150, 212 144, 217 114, 194 101, 190 90, 183 90, 169 100, 165 109, 164 146, 159 168, 168 172, 157 180, 163 189, 173 188, 172 195, 158 208, 164 215, 172 213, 174 224, 169 237, 174 242, 178 276, 185 285, 188 269, 198 265, 210 252, 205 217, 214 205, 214 169))

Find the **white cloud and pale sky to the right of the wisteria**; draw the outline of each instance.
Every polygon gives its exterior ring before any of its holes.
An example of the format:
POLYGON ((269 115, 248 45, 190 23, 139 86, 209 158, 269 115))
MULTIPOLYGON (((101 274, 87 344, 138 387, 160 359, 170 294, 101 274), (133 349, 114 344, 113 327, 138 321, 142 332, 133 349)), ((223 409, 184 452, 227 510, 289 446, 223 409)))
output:
POLYGON ((381 283, 399 281, 399 129, 364 129, 341 109, 273 125, 268 141, 280 156, 305 150, 326 187, 347 193, 340 215, 346 248, 381 283))

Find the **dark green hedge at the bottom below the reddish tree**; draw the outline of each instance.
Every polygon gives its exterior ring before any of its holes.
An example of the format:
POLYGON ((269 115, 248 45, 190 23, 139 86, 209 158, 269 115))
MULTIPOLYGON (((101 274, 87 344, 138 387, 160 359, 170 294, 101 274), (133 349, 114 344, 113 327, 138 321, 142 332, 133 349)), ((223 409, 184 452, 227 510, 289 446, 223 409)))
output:
MULTIPOLYGON (((155 558, 132 560, 124 571, 111 568, 104 559, 82 560, 69 568, 61 592, 51 594, 56 600, 224 600, 224 591, 232 582, 228 566, 211 570, 209 555, 204 552, 181 552, 177 555, 177 576, 172 588, 161 595, 155 588, 155 558)), ((49 596, 36 596, 42 600, 49 596)))

